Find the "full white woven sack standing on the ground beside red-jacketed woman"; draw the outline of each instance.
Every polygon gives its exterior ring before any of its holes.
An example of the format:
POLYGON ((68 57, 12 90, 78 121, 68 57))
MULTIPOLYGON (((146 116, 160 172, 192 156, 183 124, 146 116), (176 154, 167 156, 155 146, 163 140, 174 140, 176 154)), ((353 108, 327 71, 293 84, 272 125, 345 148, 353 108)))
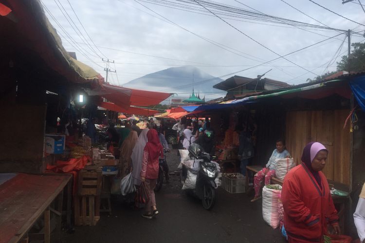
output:
POLYGON ((269 189, 266 186, 262 189, 262 217, 265 222, 277 228, 280 224, 278 208, 278 199, 281 197, 281 186, 278 186, 280 190, 269 189))

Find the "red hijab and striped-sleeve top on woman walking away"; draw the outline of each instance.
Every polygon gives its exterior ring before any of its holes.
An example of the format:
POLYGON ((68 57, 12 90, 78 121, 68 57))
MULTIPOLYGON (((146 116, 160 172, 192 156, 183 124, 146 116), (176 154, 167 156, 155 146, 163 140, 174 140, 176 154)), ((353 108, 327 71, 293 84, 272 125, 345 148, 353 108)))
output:
MULTIPOLYGON (((148 153, 147 161, 144 161, 145 164, 147 162, 146 178, 156 179, 159 173, 159 156, 164 156, 163 147, 155 129, 150 129, 147 132, 147 139, 148 142, 146 143, 144 149, 144 155, 148 153)), ((144 160, 146 160, 145 156, 144 160)))

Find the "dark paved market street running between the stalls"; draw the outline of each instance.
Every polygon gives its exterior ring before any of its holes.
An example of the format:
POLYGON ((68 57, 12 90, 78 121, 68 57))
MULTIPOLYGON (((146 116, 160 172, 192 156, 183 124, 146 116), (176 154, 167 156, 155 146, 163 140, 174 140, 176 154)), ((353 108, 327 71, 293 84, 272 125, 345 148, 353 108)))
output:
MULTIPOLYGON (((167 155, 170 171, 179 163, 176 151, 167 155)), ((148 220, 141 210, 114 200, 112 215, 102 214, 96 226, 77 226, 64 234, 67 243, 284 243, 279 229, 262 219, 261 202, 251 203, 244 193, 230 194, 221 188, 211 211, 185 195, 179 176, 156 193, 159 215, 148 220)))

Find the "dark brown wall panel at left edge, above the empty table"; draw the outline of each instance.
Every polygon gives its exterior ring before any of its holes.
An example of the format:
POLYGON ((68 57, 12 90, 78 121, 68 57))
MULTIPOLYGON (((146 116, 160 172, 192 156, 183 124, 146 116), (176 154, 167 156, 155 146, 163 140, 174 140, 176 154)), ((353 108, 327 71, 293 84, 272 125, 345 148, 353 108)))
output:
POLYGON ((0 172, 42 172, 46 105, 0 108, 0 172))

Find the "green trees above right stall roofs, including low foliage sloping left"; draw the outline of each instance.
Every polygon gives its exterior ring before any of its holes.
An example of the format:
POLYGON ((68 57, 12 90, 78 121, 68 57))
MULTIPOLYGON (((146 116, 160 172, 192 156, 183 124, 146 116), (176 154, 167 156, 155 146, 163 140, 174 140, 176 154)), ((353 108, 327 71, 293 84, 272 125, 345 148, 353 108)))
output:
POLYGON ((313 79, 308 78, 307 82, 317 82, 339 71, 364 71, 365 70, 365 43, 352 43, 353 51, 350 55, 350 69, 348 69, 348 57, 342 56, 341 61, 337 62, 336 71, 326 72, 323 75, 317 76, 313 79))

